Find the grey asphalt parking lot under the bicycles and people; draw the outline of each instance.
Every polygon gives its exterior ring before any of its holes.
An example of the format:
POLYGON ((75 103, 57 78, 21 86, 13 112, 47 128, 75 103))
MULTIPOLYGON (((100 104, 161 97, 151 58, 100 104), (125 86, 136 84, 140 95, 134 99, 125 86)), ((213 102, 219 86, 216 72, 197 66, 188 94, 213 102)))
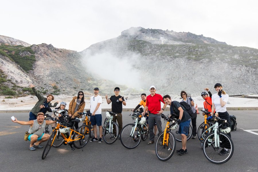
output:
MULTIPOLYGON (((163 114, 168 114, 164 112, 163 114)), ((89 142, 84 148, 71 150, 62 145, 51 148, 46 159, 42 160, 42 149, 30 151, 29 142, 23 140, 29 126, 11 122, 11 116, 18 120, 28 120, 28 113, 0 114, 0 171, 258 171, 258 111, 231 110, 236 116, 237 130, 231 132, 234 143, 232 158, 221 165, 210 163, 204 156, 198 139, 187 141, 188 154, 174 153, 168 161, 160 161, 155 154, 155 144, 148 145, 148 138, 134 149, 122 146, 120 140, 114 144, 89 142)), ((132 123, 123 112, 123 126, 132 123)), ((102 113, 103 120, 105 112, 102 113)), ((197 117, 197 127, 204 121, 197 117)), ((162 122, 163 129, 165 123, 162 122)), ((45 143, 41 144, 42 146, 45 143)), ((181 142, 176 142, 181 148, 181 142)))

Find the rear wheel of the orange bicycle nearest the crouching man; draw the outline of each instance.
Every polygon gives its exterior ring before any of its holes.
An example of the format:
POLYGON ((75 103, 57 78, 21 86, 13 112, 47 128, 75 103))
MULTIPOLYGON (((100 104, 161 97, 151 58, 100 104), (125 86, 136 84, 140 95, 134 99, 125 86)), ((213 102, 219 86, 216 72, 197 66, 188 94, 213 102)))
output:
POLYGON ((77 133, 73 134, 73 140, 75 140, 73 141, 73 145, 79 149, 84 147, 89 142, 91 129, 87 125, 82 125, 76 131, 82 134, 82 136, 77 133))

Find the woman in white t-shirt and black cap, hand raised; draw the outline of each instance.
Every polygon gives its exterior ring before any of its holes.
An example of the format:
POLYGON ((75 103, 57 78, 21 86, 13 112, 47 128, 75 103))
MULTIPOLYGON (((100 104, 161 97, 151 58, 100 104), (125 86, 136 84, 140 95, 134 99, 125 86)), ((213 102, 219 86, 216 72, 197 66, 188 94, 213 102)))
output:
MULTIPOLYGON (((226 109, 226 104, 228 102, 228 94, 226 94, 226 92, 222 90, 222 85, 220 83, 216 83, 214 88, 217 91, 217 94, 212 95, 211 116, 213 116, 214 110, 216 109, 218 116, 221 119, 227 120, 227 123, 229 123, 229 124, 226 124, 226 126, 230 127, 230 118, 229 118, 229 114, 226 109)), ((228 134, 228 136, 231 137, 230 132, 227 134, 228 134)))

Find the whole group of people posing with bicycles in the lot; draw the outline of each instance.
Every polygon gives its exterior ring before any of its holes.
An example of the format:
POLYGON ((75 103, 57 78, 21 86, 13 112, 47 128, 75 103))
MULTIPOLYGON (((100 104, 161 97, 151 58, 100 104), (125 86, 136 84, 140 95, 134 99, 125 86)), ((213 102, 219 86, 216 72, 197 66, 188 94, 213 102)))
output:
MULTIPOLYGON (((17 118, 15 120, 12 120, 12 122, 21 124, 21 125, 30 125, 29 129, 29 138, 30 140, 30 150, 35 150, 36 148, 42 148, 43 146, 39 145, 40 143, 48 140, 50 137, 49 134, 44 133, 44 128, 46 125, 52 125, 52 127, 55 127, 54 121, 46 121, 44 120, 44 114, 49 111, 53 112, 52 117, 58 118, 60 114, 56 114, 59 110, 63 110, 64 113, 70 117, 70 124, 71 126, 74 125, 74 127, 78 128, 78 123, 73 123, 73 118, 80 118, 81 115, 78 114, 79 112, 83 112, 85 107, 85 101, 84 101, 84 93, 83 91, 79 91, 78 95, 73 97, 72 101, 69 103, 69 109, 66 110, 66 103, 62 101, 60 103, 59 107, 56 107, 58 104, 58 101, 52 105, 50 102, 54 100, 54 96, 49 94, 46 97, 42 96, 34 87, 34 85, 30 85, 35 95, 38 97, 38 102, 36 105, 32 108, 31 112, 29 113, 29 121, 19 121, 17 118)), ((204 108, 208 109, 209 112, 211 112, 211 117, 216 113, 218 113, 219 117, 222 119, 226 119, 228 122, 230 122, 229 114, 226 111, 226 103, 228 101, 228 94, 226 94, 225 91, 222 90, 222 85, 220 83, 215 84, 214 86, 217 94, 212 95, 210 93, 210 90, 208 88, 205 88, 206 91, 201 93, 201 96, 203 97, 204 101, 204 108), (210 96, 209 96, 209 95, 210 96), (215 110, 216 109, 216 110, 215 110)), ((99 88, 95 87, 94 89, 94 95, 90 98, 90 112, 92 113, 92 116, 90 118, 91 124, 93 125, 93 132, 94 137, 90 140, 90 142, 98 141, 102 142, 102 116, 101 116, 101 104, 102 104, 102 97, 99 95, 99 88), (97 126, 99 127, 99 138, 97 137, 97 126)), ((163 130, 161 127, 161 116, 160 114, 165 110, 166 106, 170 106, 170 114, 171 116, 173 114, 176 114, 178 120, 177 123, 179 124, 179 134, 181 134, 182 138, 182 148, 180 150, 177 150, 177 153, 179 155, 183 155, 184 153, 187 153, 186 148, 186 140, 188 135, 188 129, 189 124, 192 122, 193 126, 193 139, 196 138, 197 134, 197 128, 196 128, 196 118, 197 118, 197 112, 194 108, 194 101, 191 97, 187 97, 187 93, 185 91, 181 91, 181 97, 183 98, 182 101, 186 102, 190 105, 193 113, 189 114, 187 110, 178 101, 172 101, 171 97, 169 95, 161 96, 160 94, 156 93, 156 87, 154 85, 150 86, 150 95, 146 96, 145 93, 141 95, 141 101, 140 103, 133 109, 136 110, 139 107, 143 106, 144 110, 142 112, 142 115, 147 115, 147 127, 149 127, 150 135, 149 139, 150 141, 148 144, 154 143, 154 138, 156 137, 156 134, 158 132, 158 136, 162 134, 163 130), (164 103, 163 107, 161 108, 161 102, 164 103)), ((105 95, 107 104, 112 103, 112 112, 117 113, 118 116, 114 116, 113 121, 118 123, 119 126, 119 132, 122 130, 123 122, 122 122, 122 105, 126 105, 126 101, 124 100, 124 97, 119 95, 120 88, 116 87, 114 89, 114 94, 111 97, 108 97, 105 95)), ((209 117, 209 118, 211 118, 209 117)), ((228 133, 230 136, 230 133, 228 133)), ((120 133, 117 135, 114 135, 113 138, 118 137, 120 139, 120 133)), ((223 153, 226 155, 227 150, 223 150, 223 153)), ((221 155, 223 155, 221 153, 221 155)))

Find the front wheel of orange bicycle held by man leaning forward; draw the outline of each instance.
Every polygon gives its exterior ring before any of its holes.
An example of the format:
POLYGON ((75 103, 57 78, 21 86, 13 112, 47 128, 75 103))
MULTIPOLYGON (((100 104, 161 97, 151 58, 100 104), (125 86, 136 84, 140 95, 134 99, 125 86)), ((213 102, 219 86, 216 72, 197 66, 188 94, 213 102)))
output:
POLYGON ((164 145, 162 145, 163 138, 164 138, 164 132, 159 136, 156 142, 155 152, 159 160, 167 161, 172 157, 172 155, 175 152, 176 141, 175 141, 175 136, 171 131, 167 131, 167 133, 165 134, 165 138, 167 140, 168 145, 166 141, 164 145))

